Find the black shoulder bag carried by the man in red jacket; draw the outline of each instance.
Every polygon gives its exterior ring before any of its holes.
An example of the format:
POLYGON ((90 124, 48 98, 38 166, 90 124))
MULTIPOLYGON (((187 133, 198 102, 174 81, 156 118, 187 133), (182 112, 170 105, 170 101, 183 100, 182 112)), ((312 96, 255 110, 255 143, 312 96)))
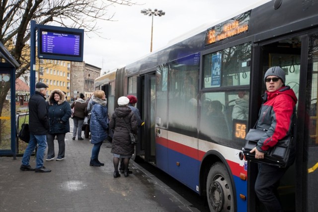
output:
POLYGON ((245 145, 243 147, 243 153, 246 160, 263 163, 267 165, 278 166, 284 168, 288 165, 288 159, 293 143, 293 136, 286 136, 282 140, 278 141, 275 146, 270 148, 267 153, 264 154, 263 159, 256 159, 255 152, 249 151, 256 147, 259 139, 266 133, 265 130, 250 129, 245 136, 245 145))

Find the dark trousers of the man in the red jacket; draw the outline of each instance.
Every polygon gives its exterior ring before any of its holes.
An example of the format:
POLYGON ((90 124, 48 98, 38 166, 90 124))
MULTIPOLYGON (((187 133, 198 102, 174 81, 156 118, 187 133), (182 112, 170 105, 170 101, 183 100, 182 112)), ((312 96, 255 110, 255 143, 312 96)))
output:
POLYGON ((255 182, 255 193, 268 212, 283 212, 278 199, 277 187, 279 180, 288 168, 279 168, 258 164, 258 175, 255 182))

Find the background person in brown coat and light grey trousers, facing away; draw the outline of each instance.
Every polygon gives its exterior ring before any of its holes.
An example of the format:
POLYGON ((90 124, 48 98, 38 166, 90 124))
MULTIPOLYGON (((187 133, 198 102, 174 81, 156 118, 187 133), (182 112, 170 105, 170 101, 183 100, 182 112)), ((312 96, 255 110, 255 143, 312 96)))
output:
POLYGON ((73 116, 73 121, 74 121, 74 128, 73 128, 73 140, 76 138, 76 134, 78 134, 78 140, 84 140, 81 138, 81 128, 84 123, 84 118, 86 116, 85 110, 87 107, 87 102, 85 101, 85 96, 84 94, 80 93, 79 98, 74 101, 71 105, 71 108, 74 108, 74 116, 73 116))

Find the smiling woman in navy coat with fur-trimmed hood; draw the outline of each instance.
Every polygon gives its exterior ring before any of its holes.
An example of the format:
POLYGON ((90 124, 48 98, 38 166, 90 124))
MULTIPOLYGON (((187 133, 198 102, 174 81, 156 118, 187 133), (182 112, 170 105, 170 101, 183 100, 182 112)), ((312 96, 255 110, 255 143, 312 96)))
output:
POLYGON ((65 99, 65 94, 60 89, 51 92, 47 104, 50 131, 47 134, 48 155, 46 160, 53 160, 55 157, 55 137, 57 137, 59 143, 59 153, 56 160, 63 160, 65 156, 65 134, 70 132, 71 107, 65 99))

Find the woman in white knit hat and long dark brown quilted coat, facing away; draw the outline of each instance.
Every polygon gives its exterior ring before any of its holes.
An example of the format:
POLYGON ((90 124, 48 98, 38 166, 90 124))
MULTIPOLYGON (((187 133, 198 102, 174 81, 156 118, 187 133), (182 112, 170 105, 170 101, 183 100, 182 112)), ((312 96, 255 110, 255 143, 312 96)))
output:
POLYGON ((126 96, 118 98, 119 108, 116 108, 111 116, 109 127, 114 130, 111 152, 114 154, 114 178, 120 177, 118 172, 119 159, 123 158, 124 176, 128 177, 129 159, 134 153, 135 146, 130 142, 129 131, 137 134, 137 119, 128 107, 129 99, 126 96), (128 130, 128 129, 129 130, 128 130))

